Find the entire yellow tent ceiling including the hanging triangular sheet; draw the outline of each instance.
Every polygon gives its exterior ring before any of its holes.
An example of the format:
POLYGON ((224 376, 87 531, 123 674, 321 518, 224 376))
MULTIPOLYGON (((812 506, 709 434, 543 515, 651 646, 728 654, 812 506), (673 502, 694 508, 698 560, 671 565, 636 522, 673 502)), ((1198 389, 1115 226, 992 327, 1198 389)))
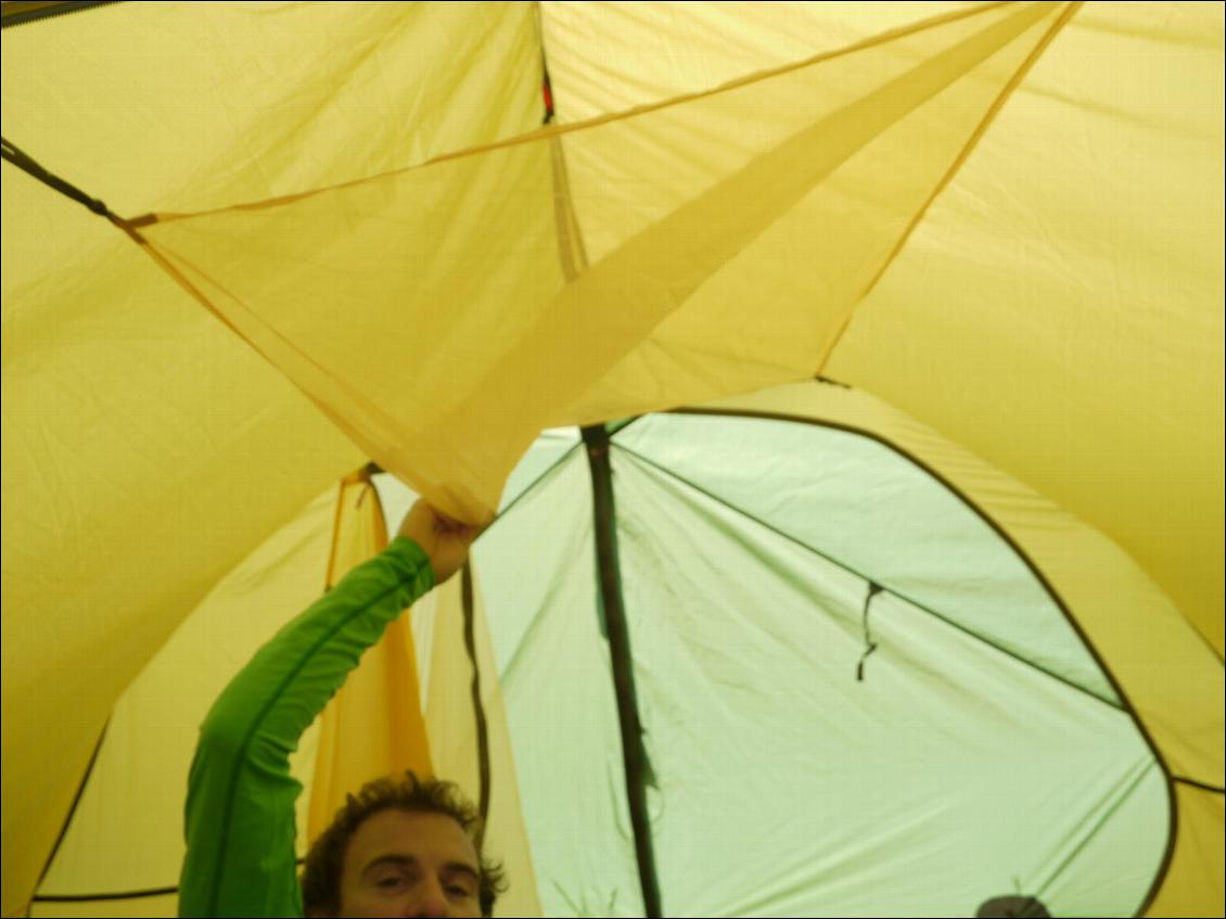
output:
MULTIPOLYGON (((1065 509, 1013 535, 1168 768, 1220 789, 1222 31, 1217 4, 1106 2, 115 5, 6 28, 5 136, 156 217, 136 246, 0 170, 4 913, 108 717, 112 743, 170 700, 136 690, 188 614, 318 591, 302 509, 326 516, 308 502, 367 458, 484 518, 541 428, 815 373, 1025 483, 969 473, 1002 517, 1065 509), (1067 570, 1085 558, 1103 567, 1067 570)), ((99 757, 78 814, 143 793, 125 766, 99 757)), ((1213 794, 1177 788, 1154 914, 1221 912, 1213 794)), ((70 833, 47 882, 107 877, 97 849, 70 833)), ((157 887, 173 859, 112 876, 157 887)))

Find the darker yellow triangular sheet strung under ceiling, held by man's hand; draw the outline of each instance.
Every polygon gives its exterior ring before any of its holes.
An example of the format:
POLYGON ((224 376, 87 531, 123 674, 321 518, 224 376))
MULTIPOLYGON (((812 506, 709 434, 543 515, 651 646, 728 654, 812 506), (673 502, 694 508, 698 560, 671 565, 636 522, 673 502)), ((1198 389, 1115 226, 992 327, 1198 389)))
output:
POLYGON ((820 368, 1069 13, 972 7, 716 92, 134 232, 384 468, 484 520, 542 428, 820 368), (625 173, 571 185, 580 224, 601 232, 584 234, 590 267, 570 282, 557 135, 568 162, 600 156, 625 173), (874 206, 851 217, 866 195, 874 206), (463 225, 481 233, 461 238, 463 225), (771 283, 809 238, 821 255, 771 283), (755 336, 728 341, 764 295, 755 336), (375 326, 381 344, 352 331, 375 326), (405 360, 414 339, 434 347, 405 360))

